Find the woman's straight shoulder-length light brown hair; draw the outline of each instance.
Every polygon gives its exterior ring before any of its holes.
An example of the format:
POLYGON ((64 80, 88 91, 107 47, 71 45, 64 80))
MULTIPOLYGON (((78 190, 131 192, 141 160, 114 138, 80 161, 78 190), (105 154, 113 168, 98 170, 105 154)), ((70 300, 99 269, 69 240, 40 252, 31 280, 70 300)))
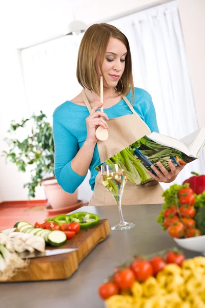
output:
POLYGON ((95 60, 97 55, 99 55, 99 66, 102 71, 101 67, 110 37, 118 38, 127 48, 125 70, 115 89, 120 95, 127 95, 132 90, 132 101, 134 102, 134 82, 129 42, 127 37, 119 29, 109 24, 94 24, 86 30, 78 51, 77 80, 83 88, 87 88, 100 95, 95 60))

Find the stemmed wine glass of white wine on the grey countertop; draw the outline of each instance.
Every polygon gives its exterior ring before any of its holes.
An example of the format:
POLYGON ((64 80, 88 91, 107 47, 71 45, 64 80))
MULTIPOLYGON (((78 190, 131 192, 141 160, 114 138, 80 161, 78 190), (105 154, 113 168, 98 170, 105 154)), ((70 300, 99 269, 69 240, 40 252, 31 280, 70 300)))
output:
POLYGON ((113 163, 112 167, 105 163, 101 165, 101 178, 103 185, 110 191, 111 195, 116 200, 119 209, 120 223, 111 227, 111 230, 131 229, 135 224, 126 222, 121 210, 121 197, 127 182, 125 169, 121 163, 113 163))

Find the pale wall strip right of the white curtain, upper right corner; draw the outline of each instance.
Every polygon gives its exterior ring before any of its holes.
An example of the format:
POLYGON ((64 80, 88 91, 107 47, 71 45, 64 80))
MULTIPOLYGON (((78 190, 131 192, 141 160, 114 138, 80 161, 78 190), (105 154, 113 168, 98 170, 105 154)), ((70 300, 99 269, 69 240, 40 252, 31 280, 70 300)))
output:
POLYGON ((199 126, 205 127, 205 1, 179 0, 179 14, 187 52, 199 126))

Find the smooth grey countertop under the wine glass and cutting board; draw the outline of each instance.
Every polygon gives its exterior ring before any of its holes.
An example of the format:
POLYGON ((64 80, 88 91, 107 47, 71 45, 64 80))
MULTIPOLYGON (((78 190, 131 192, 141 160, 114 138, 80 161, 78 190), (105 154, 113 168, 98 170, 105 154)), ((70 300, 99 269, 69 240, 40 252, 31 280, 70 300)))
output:
MULTIPOLYGON (((98 286, 112 273, 113 268, 136 254, 150 254, 176 246, 174 240, 156 223, 160 205, 122 206, 126 221, 135 227, 111 231, 79 264, 68 280, 15 282, 0 284, 0 307, 4 308, 103 308, 98 297, 98 286)), ((109 219, 110 225, 119 222, 117 206, 86 206, 76 211, 96 213, 109 219)), ((76 212, 74 211, 74 212, 76 212)), ((184 251, 186 257, 197 254, 184 251)))

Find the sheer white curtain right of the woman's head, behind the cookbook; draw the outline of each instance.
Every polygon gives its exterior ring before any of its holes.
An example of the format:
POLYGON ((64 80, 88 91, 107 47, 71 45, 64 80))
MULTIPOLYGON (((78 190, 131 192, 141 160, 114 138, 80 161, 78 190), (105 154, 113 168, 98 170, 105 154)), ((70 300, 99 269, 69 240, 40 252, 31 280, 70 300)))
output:
MULTIPOLYGON (((180 139, 198 128, 177 1, 138 12, 110 24, 128 37, 134 84, 154 102, 159 131, 180 139)), ((182 183, 191 171, 205 172, 203 156, 188 164, 170 184, 182 183)))

